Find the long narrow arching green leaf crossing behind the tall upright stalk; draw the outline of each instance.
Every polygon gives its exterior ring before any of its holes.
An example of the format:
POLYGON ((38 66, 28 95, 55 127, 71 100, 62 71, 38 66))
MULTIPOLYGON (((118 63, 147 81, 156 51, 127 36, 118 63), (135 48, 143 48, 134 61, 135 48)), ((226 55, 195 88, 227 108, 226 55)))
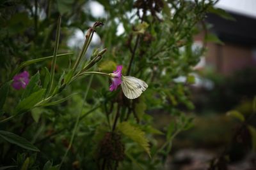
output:
MULTIPOLYGON (((67 55, 70 55, 70 54, 72 54, 72 53, 61 53, 61 54, 58 54, 57 57, 63 57, 63 56, 67 56, 67 55)), ((51 55, 49 57, 42 57, 42 58, 39 58, 39 59, 27 60, 25 62, 22 62, 20 64, 20 66, 17 67, 17 69, 15 69, 12 72, 10 77, 13 77, 15 74, 17 74, 23 67, 29 66, 30 64, 34 64, 36 62, 52 59, 52 57, 53 57, 53 55, 51 55)))

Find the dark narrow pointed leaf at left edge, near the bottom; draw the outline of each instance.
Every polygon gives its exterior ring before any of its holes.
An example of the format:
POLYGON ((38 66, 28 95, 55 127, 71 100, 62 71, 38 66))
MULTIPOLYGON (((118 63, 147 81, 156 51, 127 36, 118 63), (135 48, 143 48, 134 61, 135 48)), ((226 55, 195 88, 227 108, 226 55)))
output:
POLYGON ((6 141, 13 143, 15 145, 18 145, 22 148, 25 148, 27 150, 32 150, 35 152, 40 152, 38 148, 36 148, 34 145, 32 145, 29 141, 27 141, 24 138, 21 138, 17 134, 13 134, 12 132, 8 131, 0 131, 1 138, 5 139, 6 141))

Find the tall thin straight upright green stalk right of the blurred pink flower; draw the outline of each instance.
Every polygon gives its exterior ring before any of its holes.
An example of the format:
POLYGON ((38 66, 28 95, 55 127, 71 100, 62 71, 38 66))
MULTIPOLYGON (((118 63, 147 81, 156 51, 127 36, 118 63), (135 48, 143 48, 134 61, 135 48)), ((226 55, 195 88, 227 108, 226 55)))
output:
POLYGON ((46 96, 48 96, 51 93, 53 81, 54 81, 54 70, 55 70, 56 60, 57 60, 57 51, 60 43, 60 24, 61 24, 61 15, 58 18, 55 46, 54 46, 54 52, 53 52, 53 58, 52 58, 51 74, 50 74, 50 86, 46 96))

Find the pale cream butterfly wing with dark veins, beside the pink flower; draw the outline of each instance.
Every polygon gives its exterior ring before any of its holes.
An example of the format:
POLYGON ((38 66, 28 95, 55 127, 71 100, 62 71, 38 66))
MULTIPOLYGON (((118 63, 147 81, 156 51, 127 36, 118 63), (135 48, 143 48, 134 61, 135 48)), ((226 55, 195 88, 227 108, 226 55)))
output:
POLYGON ((145 81, 132 76, 124 76, 121 83, 124 95, 128 99, 136 99, 141 96, 142 92, 148 87, 145 81))

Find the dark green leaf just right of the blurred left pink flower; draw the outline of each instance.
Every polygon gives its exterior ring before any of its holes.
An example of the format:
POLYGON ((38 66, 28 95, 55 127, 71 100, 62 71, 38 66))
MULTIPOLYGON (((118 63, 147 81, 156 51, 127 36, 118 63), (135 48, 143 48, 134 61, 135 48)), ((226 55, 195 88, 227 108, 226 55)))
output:
POLYGON ((33 92, 37 92, 40 87, 38 85, 40 81, 40 73, 37 72, 35 75, 33 75, 28 83, 28 86, 24 90, 21 99, 24 99, 28 96, 30 96, 33 92))

